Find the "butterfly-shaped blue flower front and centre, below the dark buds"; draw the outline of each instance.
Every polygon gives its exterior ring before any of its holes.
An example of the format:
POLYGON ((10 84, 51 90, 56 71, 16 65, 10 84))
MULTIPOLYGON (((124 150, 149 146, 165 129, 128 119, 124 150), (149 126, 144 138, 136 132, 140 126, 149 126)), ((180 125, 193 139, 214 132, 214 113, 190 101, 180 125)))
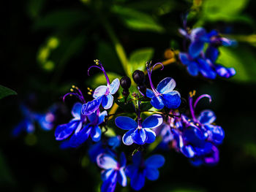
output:
POLYGON ((125 145, 132 145, 135 142, 138 145, 143 145, 145 143, 154 142, 156 139, 156 134, 151 128, 155 128, 162 124, 161 115, 151 115, 143 123, 140 122, 138 118, 138 123, 129 117, 119 116, 116 118, 116 126, 127 131, 123 136, 123 142, 125 145))

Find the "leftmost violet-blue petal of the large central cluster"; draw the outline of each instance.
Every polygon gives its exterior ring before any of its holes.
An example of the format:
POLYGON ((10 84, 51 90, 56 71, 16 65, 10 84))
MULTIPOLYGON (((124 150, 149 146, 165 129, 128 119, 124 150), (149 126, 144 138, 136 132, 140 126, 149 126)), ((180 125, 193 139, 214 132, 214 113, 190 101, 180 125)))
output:
POLYGON ((76 128, 78 128, 79 124, 80 124, 80 120, 74 120, 74 121, 71 121, 70 123, 57 126, 55 130, 56 140, 63 140, 69 137, 69 135, 72 134, 72 132, 76 128))

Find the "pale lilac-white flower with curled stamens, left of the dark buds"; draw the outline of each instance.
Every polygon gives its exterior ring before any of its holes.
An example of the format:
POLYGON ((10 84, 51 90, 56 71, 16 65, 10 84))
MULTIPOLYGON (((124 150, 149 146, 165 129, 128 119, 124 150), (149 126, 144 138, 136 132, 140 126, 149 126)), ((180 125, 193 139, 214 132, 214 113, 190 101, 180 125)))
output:
POLYGON ((116 78, 115 80, 113 80, 113 82, 110 83, 108 75, 106 74, 105 69, 102 66, 101 62, 99 60, 95 60, 95 63, 97 64, 96 66, 89 67, 88 74, 90 69, 93 67, 100 69, 105 74, 107 85, 100 85, 99 87, 97 87, 93 94, 94 100, 89 101, 86 104, 83 104, 83 109, 82 109, 83 115, 91 115, 92 112, 94 112, 99 108, 100 104, 102 104, 102 107, 105 110, 110 109, 110 107, 112 107, 113 105, 112 95, 115 94, 116 91, 118 91, 118 88, 120 85, 118 78, 116 78))

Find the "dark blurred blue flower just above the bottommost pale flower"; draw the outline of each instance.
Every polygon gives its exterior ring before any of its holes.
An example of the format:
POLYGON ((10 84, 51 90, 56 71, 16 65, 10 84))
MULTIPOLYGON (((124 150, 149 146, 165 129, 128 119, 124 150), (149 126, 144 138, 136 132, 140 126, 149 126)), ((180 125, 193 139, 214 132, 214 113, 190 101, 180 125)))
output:
POLYGON ((115 154, 115 148, 120 145, 121 138, 119 136, 109 137, 92 145, 89 149, 89 156, 91 161, 96 162, 97 156, 100 153, 107 153, 109 155, 115 154))

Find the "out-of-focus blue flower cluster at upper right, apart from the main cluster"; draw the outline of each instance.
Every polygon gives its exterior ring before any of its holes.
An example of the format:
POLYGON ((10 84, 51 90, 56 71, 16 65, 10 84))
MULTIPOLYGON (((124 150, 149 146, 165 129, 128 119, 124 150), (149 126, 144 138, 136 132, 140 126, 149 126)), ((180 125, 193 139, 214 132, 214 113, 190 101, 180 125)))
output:
POLYGON ((236 74, 235 69, 216 64, 218 47, 236 45, 235 41, 222 37, 215 30, 207 33, 204 28, 194 28, 191 31, 180 29, 179 32, 190 41, 188 52, 179 53, 181 63, 187 66, 189 74, 197 76, 200 73, 208 79, 215 79, 217 75, 229 78, 236 74), (208 47, 204 50, 206 44, 208 47))

